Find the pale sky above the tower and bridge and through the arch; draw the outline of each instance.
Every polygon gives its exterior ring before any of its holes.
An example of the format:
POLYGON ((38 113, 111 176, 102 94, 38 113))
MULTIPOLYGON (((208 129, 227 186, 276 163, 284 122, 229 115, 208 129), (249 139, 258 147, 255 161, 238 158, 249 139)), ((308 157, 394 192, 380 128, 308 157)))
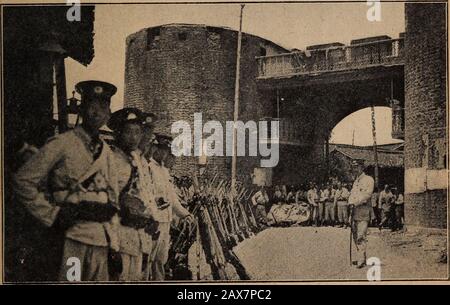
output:
MULTIPOLYGON (((348 44, 350 40, 404 32, 404 4, 381 3, 381 21, 370 22, 369 6, 361 3, 248 3, 244 9, 243 31, 288 49, 329 42, 348 44)), ((125 39, 143 28, 168 23, 194 23, 239 27, 239 4, 97 4, 95 8, 95 57, 88 67, 66 59, 67 91, 82 80, 98 79, 118 87, 112 110, 123 107, 125 39)), ((81 16, 83 18, 83 16, 81 16)), ((391 133, 389 108, 376 109, 377 142, 395 142, 391 133)), ((371 145, 370 110, 363 109, 341 121, 331 142, 371 145)))

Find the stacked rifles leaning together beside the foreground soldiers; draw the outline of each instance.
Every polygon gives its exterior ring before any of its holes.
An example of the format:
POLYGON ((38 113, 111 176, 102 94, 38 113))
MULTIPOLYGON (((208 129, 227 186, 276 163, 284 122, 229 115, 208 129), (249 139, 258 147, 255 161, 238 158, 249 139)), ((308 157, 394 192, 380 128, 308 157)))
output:
POLYGON ((258 232, 249 199, 251 193, 242 186, 233 191, 229 182, 213 179, 200 185, 183 181, 179 186, 182 202, 195 217, 195 223, 180 221, 172 231, 172 247, 169 264, 174 279, 191 279, 188 271, 188 251, 197 240, 211 267, 214 280, 229 280, 230 269, 241 280, 250 279, 233 248, 244 239, 258 232), (229 266, 233 268, 229 268, 229 266))

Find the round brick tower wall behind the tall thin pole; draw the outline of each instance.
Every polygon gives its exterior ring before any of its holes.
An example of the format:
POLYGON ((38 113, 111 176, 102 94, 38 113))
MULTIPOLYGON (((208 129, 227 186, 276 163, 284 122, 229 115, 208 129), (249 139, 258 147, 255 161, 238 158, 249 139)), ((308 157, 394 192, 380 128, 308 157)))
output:
MULTIPOLYGON (((125 106, 157 114, 156 132, 170 133, 173 122, 193 124, 195 112, 203 123, 233 120, 237 32, 202 25, 165 25, 143 29, 126 40, 125 106)), ((265 96, 256 88, 261 48, 286 52, 256 36, 244 34, 241 58, 239 119, 258 121, 267 115, 265 96)), ((270 109, 271 110, 271 109, 270 109)), ((258 158, 238 158, 238 177, 251 181, 258 158)), ((192 174, 198 168, 195 157, 181 157, 174 166, 177 175, 192 174)), ((209 157, 208 169, 230 177, 230 157, 209 157)))

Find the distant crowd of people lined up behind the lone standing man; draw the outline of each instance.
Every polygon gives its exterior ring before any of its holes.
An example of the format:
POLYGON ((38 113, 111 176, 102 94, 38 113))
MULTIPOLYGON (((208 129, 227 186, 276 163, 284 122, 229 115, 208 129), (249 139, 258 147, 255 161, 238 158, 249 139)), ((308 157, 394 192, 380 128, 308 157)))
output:
MULTIPOLYGON (((299 186, 263 186, 252 197, 252 203, 256 218, 263 226, 286 224, 282 221, 268 221, 273 219, 271 213, 274 213, 275 208, 300 205, 308 208, 309 217, 302 218, 302 223, 296 224, 347 228, 351 216, 348 204, 351 190, 352 183, 341 182, 337 178, 322 184, 311 182, 309 185, 299 186)), ((377 226, 380 230, 389 228, 392 231, 403 228, 404 199, 396 187, 385 185, 381 192, 375 187, 371 203, 371 226, 377 226)))

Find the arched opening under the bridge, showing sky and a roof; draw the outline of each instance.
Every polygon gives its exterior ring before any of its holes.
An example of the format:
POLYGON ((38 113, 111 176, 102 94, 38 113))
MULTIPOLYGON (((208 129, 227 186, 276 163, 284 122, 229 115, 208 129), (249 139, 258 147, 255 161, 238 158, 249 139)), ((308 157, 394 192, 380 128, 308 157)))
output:
POLYGON ((374 107, 376 152, 370 107, 355 111, 341 119, 332 129, 326 143, 328 174, 341 181, 351 181, 350 166, 353 160, 364 161, 375 177, 377 186, 389 184, 403 192, 404 141, 392 137, 392 109, 374 107))

